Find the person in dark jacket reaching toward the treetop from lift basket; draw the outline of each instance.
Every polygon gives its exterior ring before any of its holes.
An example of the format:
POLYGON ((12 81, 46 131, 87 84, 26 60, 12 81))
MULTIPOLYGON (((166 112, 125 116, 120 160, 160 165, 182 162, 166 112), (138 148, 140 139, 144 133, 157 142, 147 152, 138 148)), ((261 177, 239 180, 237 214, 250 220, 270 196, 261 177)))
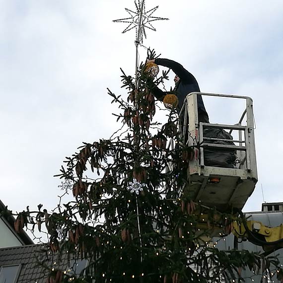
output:
MULTIPOLYGON (((147 60, 146 64, 147 63, 155 63, 156 65, 170 68, 176 74, 176 76, 174 77, 174 82, 175 82, 174 90, 177 92, 177 97, 179 100, 177 105, 178 113, 180 112, 184 100, 189 93, 200 92, 200 87, 196 78, 189 71, 187 71, 181 64, 173 60, 160 59, 160 58, 147 60)), ((164 96, 167 94, 157 86, 152 87, 151 91, 153 95, 158 100, 161 101, 163 100, 164 96)), ((209 123, 209 115, 206 111, 202 96, 197 95, 197 99, 198 99, 199 122, 209 123)))

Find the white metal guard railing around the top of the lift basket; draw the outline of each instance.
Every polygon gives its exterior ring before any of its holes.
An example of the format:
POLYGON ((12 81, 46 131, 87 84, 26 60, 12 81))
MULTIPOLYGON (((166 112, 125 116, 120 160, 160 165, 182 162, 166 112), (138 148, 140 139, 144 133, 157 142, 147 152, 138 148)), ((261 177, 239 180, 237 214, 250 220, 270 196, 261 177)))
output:
POLYGON ((256 155, 255 155, 255 142, 254 142, 254 115, 253 115, 253 102, 250 97, 229 95, 229 94, 213 94, 213 93, 200 93, 193 92, 187 95, 187 99, 180 111, 180 117, 183 117, 183 125, 179 126, 182 133, 182 139, 189 145, 194 145, 198 152, 199 160, 198 166, 205 166, 204 149, 231 149, 236 151, 236 166, 237 169, 244 169, 250 172, 256 172, 256 155), (197 95, 224 97, 232 99, 246 100, 246 107, 241 115, 239 122, 234 125, 227 124, 211 124, 198 121, 198 108, 197 108, 197 95), (246 125, 242 125, 246 117, 246 125), (229 130, 229 134, 237 134, 236 139, 220 139, 209 138, 204 136, 204 129, 221 129, 229 130), (185 141, 186 137, 188 141, 185 141), (220 143, 215 143, 220 142, 220 143), (221 144, 221 142, 231 142, 231 144, 221 144))

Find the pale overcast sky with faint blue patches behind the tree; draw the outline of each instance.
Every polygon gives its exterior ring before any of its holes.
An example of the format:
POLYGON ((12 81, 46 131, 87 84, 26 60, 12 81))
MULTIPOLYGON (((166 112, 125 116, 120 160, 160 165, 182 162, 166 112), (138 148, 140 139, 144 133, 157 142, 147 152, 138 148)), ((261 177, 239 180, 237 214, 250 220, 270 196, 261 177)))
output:
MULTIPOLYGON (((265 201, 283 201, 283 1, 146 1, 155 5, 170 20, 153 22, 146 47, 181 63, 203 92, 254 100, 259 182, 245 211, 261 209, 261 184, 265 201)), ((112 22, 125 7, 134 0, 0 0, 0 199, 9 209, 54 208, 65 156, 118 129, 106 87, 126 97, 120 67, 135 71, 135 31, 112 22)), ((241 115, 205 104, 212 123, 241 115)))

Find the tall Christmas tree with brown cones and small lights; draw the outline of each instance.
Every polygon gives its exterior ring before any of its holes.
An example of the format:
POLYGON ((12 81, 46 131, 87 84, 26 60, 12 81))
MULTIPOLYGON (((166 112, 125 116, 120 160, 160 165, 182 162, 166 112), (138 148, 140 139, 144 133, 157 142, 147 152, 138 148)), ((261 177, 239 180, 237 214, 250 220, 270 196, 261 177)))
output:
MULTIPOLYGON (((137 48, 141 31, 140 23, 137 48)), ((153 58, 155 52, 148 50, 147 59, 153 58)), ((215 227, 223 236, 230 233, 234 216, 195 204, 188 193, 194 148, 183 142, 173 102, 164 123, 152 122, 156 102, 151 89, 168 72, 156 74, 156 66, 141 63, 135 76, 122 71, 123 95, 108 89, 122 128, 109 139, 84 142, 66 157, 58 177, 64 195, 71 193, 73 200, 63 204, 61 197, 53 212, 39 206, 17 215, 19 233, 25 226, 48 233, 42 249, 46 258, 40 261, 47 282, 240 282, 246 268, 270 277, 274 269, 281 278, 276 258, 221 251, 207 240, 215 227), (204 211, 209 215, 206 228, 200 225, 204 211), (86 268, 69 274, 60 267, 66 255, 86 260, 86 268)))

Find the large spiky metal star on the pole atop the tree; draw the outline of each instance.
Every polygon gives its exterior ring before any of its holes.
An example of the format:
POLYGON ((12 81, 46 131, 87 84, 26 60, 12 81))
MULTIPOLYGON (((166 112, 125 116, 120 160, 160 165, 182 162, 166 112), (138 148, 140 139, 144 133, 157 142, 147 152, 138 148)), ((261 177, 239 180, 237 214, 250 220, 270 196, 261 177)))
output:
POLYGON ((122 33, 125 33, 133 28, 136 28, 136 41, 135 44, 139 45, 142 43, 143 36, 146 38, 145 29, 150 29, 156 31, 152 26, 151 22, 157 20, 168 20, 167 18, 154 17, 152 14, 156 11, 158 6, 145 11, 145 0, 135 0, 136 10, 132 11, 128 8, 125 10, 130 14, 130 17, 124 19, 114 20, 113 22, 123 22, 129 23, 129 25, 123 30, 122 33))

